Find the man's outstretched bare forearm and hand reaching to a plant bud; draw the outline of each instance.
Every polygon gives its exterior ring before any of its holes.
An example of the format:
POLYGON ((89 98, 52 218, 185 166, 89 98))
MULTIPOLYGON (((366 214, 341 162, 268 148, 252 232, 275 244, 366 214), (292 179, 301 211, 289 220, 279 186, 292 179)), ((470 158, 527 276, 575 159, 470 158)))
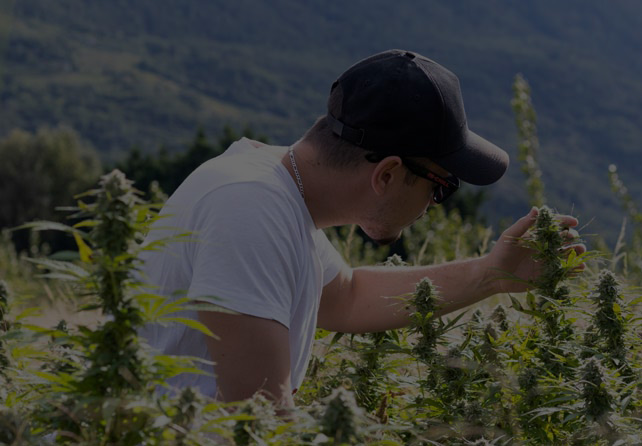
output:
MULTIPOLYGON (((516 243, 532 226, 535 211, 518 220, 499 238, 490 254, 465 261, 421 267, 365 267, 346 270, 323 291, 319 327, 346 333, 383 331, 406 326, 413 311, 407 297, 419 280, 428 277, 441 298, 438 314, 471 305, 499 292, 520 292, 525 282, 502 280, 506 275, 524 281, 539 274, 532 251, 516 243), (405 295, 405 298, 404 298, 405 295)), ((577 220, 561 217, 573 227, 577 220)), ((583 245, 572 247, 584 252, 583 245)))

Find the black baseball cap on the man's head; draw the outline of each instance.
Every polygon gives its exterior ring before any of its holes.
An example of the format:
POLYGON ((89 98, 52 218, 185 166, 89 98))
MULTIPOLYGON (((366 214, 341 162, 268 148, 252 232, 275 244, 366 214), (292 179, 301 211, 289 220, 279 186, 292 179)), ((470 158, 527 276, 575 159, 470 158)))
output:
MULTIPOLYGON (((508 154, 468 129, 455 74, 405 50, 370 56, 333 84, 343 100, 327 120, 340 138, 366 150, 425 157, 461 180, 491 184, 508 168, 508 154)), ((332 91, 331 90, 331 91, 332 91)))

